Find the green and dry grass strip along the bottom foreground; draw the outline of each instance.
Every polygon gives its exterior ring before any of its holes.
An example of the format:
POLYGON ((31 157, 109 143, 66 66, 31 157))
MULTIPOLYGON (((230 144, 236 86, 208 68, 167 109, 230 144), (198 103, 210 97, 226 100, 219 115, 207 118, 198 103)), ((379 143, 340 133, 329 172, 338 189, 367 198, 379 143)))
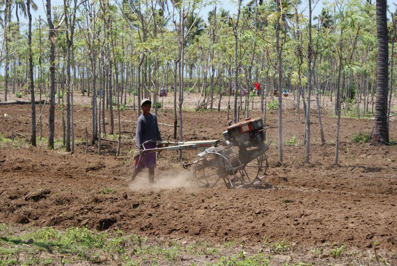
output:
MULTIPOLYGON (((0 224, 0 266, 8 265, 214 265, 214 266, 267 266, 287 265, 309 266, 353 264, 376 264, 376 257, 360 253, 350 255, 347 246, 332 245, 319 247, 310 253, 291 249, 291 245, 281 240, 266 244, 259 250, 246 252, 247 244, 227 241, 214 246, 207 241, 182 242, 152 239, 136 234, 125 234, 120 230, 112 233, 93 231, 87 228, 67 228, 58 230, 52 227, 32 226, 12 227, 0 224), (295 253, 294 253, 295 252, 295 253), (284 256, 276 256, 277 254, 284 256), (288 262, 285 255, 290 255, 288 262), (294 258, 294 259, 292 259, 294 258), (199 262, 199 263, 198 263, 199 262), (359 263, 358 263, 359 262, 359 263)), ((374 241, 374 246, 379 243, 374 241)), ((379 244, 378 244, 379 245, 379 244)), ((380 252, 378 250, 378 252, 380 252)), ((378 253, 378 260, 394 262, 388 254, 378 253)), ((393 264, 390 264, 393 265, 393 264)))

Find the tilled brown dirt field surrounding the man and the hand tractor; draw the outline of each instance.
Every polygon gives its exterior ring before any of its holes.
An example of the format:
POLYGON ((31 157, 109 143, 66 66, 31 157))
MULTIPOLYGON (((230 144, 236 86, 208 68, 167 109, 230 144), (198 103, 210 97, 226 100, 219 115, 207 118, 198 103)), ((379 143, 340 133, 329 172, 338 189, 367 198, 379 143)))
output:
MULTIPOLYGON (((0 106, 3 137, 11 138, 12 130, 29 134, 29 108, 0 106)), ((134 125, 122 123, 123 141, 130 144, 123 146, 121 157, 114 156, 117 144, 112 142, 103 142, 103 155, 96 155, 97 148, 90 146, 85 156, 90 108, 79 106, 74 110, 74 154, 27 147, 21 139, 1 144, 1 223, 120 229, 184 241, 244 240, 252 246, 285 240, 301 249, 344 243, 365 251, 373 250, 376 243, 383 252, 396 256, 397 148, 353 142, 354 134, 370 133, 371 120, 341 120, 340 164, 333 166, 336 119, 323 117, 327 144, 320 145, 313 116, 311 163, 305 165, 304 124, 295 114, 286 112, 284 140, 295 135, 297 145, 284 145, 284 164, 276 167, 277 145, 271 145, 263 189, 228 190, 195 187, 192 170, 183 169, 172 152, 161 154, 154 186, 148 185, 147 172, 132 184, 134 145, 130 132, 134 132, 134 125)), ((57 108, 56 139, 62 139, 60 114, 57 108)), ((47 136, 46 115, 47 110, 43 113, 43 136, 47 136)), ((136 118, 132 110, 122 115, 127 120, 136 118)), ((224 112, 184 112, 183 116, 185 140, 222 138, 227 125, 224 112)), ((256 116, 260 113, 252 114, 256 116)), ((159 112, 158 120, 173 124, 173 114, 159 112)), ((275 113, 268 114, 266 124, 270 125, 267 139, 277 142, 275 113)), ((163 139, 172 136, 172 128, 160 130, 163 139)), ((390 132, 396 139, 395 121, 390 132)), ((194 160, 196 153, 184 152, 183 161, 194 160)))

